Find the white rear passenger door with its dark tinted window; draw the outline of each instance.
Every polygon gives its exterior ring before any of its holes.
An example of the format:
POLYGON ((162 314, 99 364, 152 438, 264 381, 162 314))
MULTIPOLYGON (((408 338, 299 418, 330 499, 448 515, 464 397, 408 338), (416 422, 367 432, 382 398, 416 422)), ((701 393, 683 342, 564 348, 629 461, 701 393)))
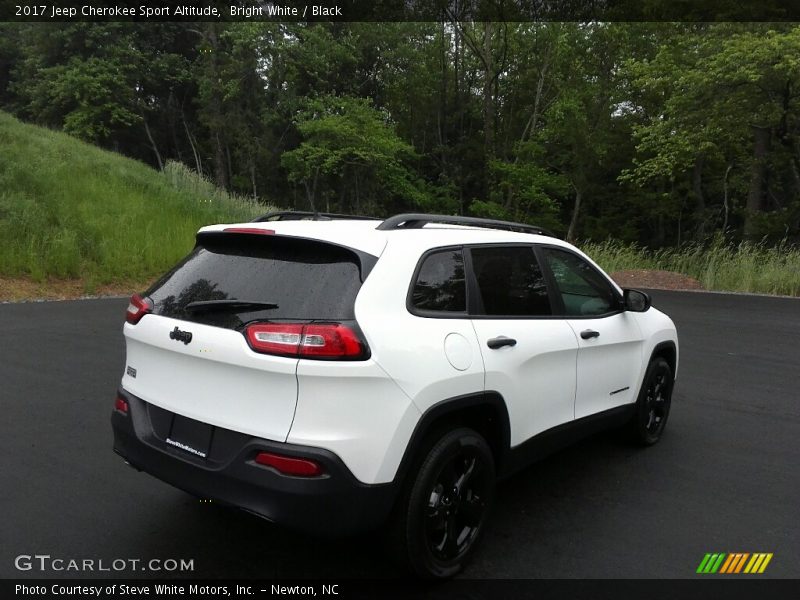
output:
POLYGON ((468 258, 485 389, 505 399, 514 446, 574 418, 578 341, 553 317, 531 245, 471 246, 468 258))

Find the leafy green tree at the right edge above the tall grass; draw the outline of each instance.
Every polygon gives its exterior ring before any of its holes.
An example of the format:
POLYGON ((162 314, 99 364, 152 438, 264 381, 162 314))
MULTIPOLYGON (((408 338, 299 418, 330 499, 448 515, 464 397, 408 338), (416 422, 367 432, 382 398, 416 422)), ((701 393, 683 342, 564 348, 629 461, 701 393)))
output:
POLYGON ((685 181, 701 236, 709 220, 709 180, 726 215, 721 191, 727 192, 729 181, 740 181, 746 188, 732 186, 732 193, 745 198, 744 235, 767 233, 766 211, 796 211, 800 200, 799 53, 796 27, 719 24, 675 38, 652 61, 632 62, 634 84, 663 102, 637 128, 637 158, 625 177, 673 188, 685 181), (732 170, 747 177, 731 179, 732 170))

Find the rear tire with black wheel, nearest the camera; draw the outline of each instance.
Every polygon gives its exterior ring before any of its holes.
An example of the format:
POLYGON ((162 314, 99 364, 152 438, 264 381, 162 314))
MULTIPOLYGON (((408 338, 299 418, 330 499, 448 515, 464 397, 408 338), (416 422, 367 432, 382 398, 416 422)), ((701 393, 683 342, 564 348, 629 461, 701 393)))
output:
POLYGON ((461 571, 485 529, 494 486, 494 457, 480 434, 459 428, 435 441, 409 477, 391 523, 402 566, 426 579, 461 571))

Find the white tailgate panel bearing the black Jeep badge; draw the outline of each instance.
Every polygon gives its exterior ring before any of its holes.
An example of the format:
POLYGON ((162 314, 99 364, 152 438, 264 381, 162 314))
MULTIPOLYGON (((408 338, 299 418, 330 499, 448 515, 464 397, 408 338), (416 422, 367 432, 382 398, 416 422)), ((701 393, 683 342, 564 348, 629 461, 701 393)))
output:
POLYGON ((124 327, 122 387, 166 410, 283 442, 297 405, 297 359, 257 354, 238 331, 145 315, 124 327), (178 327, 192 342, 172 340, 178 327))

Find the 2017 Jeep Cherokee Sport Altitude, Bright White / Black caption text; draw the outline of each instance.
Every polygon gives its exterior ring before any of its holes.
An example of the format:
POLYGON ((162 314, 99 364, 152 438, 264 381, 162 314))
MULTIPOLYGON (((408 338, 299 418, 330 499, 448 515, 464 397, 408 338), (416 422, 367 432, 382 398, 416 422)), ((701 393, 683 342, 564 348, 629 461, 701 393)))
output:
POLYGON ((60 6, 55 4, 17 4, 14 6, 14 15, 17 17, 45 17, 50 19, 72 19, 78 17, 88 18, 168 18, 168 17, 233 17, 242 19, 269 19, 269 18, 295 18, 305 19, 312 17, 341 17, 340 6, 317 4, 280 5, 267 4, 264 6, 230 6, 219 9, 216 6, 203 5, 177 5, 158 6, 153 3, 141 6, 95 6, 84 4, 82 6, 60 6), (227 11, 224 14, 223 11, 227 11))

